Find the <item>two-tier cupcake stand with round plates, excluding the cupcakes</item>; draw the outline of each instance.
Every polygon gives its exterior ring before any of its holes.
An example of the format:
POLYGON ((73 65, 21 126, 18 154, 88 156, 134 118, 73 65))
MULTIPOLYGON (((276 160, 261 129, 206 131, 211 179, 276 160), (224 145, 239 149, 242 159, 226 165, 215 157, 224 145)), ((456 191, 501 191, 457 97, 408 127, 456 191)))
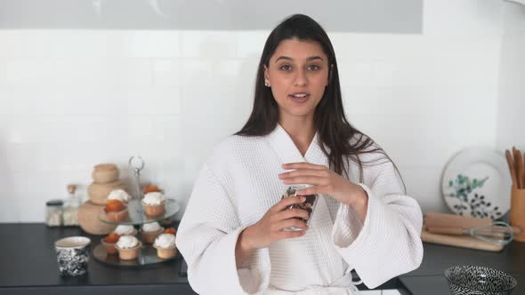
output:
MULTIPOLYGON (((129 218, 123 221, 114 222, 106 218, 104 211, 99 213, 98 218, 102 222, 106 222, 114 225, 131 225, 131 226, 141 226, 142 224, 160 221, 163 219, 169 219, 174 216, 180 209, 179 205, 175 203, 173 199, 166 200, 166 212, 158 216, 148 216, 144 213, 142 209, 141 200, 133 199, 128 203, 129 218)), ((140 233, 138 234, 141 235, 140 233)), ((133 260, 121 260, 118 258, 117 254, 108 254, 104 246, 100 243, 93 248, 93 257, 101 261, 104 264, 108 264, 116 267, 141 267, 146 265, 153 265, 161 262, 165 262, 172 259, 177 259, 180 254, 177 254, 174 258, 171 259, 160 259, 157 256, 157 249, 151 244, 142 243, 141 250, 139 251, 139 257, 133 260)))

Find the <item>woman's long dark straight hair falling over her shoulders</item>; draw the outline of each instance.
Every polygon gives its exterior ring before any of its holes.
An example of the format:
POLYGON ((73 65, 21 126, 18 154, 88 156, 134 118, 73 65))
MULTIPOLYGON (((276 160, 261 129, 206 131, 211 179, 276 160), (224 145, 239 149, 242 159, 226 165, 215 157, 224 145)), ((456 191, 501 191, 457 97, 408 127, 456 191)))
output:
POLYGON ((235 134, 263 136, 277 127, 279 106, 273 98, 271 89, 264 86, 264 66, 269 67, 271 56, 282 41, 294 38, 320 44, 328 58, 330 68, 328 84, 315 109, 314 126, 319 134, 320 147, 327 155, 329 168, 340 175, 344 173, 349 176, 349 163, 345 163, 345 160, 350 159, 359 164, 359 180, 362 181, 363 163, 365 162, 359 159, 360 154, 379 152, 384 155, 385 160, 392 160, 374 140, 365 133, 359 132, 346 120, 334 47, 332 47, 327 32, 309 16, 292 15, 271 31, 264 44, 263 55, 257 70, 252 114, 244 127, 235 134))

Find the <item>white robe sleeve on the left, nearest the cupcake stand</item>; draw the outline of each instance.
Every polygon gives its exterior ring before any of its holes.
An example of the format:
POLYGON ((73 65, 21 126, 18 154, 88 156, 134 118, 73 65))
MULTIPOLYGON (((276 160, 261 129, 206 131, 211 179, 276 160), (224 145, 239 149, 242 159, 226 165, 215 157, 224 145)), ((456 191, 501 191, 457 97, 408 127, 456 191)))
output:
POLYGON ((237 268, 240 226, 234 202, 214 171, 200 171, 179 225, 176 245, 188 263, 188 280, 199 294, 257 294, 270 283, 267 248, 254 251, 237 268))

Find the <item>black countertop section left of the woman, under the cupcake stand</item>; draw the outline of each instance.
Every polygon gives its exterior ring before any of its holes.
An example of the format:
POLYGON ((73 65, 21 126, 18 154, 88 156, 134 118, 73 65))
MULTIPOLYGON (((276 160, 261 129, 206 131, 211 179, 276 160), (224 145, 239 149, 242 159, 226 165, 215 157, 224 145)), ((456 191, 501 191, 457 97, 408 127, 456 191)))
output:
POLYGON ((62 237, 85 235, 93 247, 100 236, 86 235, 79 227, 46 227, 44 224, 0 224, 0 294, 195 294, 186 277, 178 275, 181 259, 146 267, 112 267, 90 257, 87 275, 59 274, 54 242, 62 237), (133 288, 129 288, 133 286, 133 288), (124 292, 122 292, 124 293, 124 292))

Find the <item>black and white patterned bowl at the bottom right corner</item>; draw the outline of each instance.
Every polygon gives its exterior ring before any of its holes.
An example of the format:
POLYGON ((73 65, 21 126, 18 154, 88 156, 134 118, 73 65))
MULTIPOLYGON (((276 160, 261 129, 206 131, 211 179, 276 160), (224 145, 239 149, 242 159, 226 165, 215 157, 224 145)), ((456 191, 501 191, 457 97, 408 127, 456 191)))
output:
POLYGON ((450 267, 445 277, 453 295, 508 295, 518 284, 511 275, 490 267, 450 267))

